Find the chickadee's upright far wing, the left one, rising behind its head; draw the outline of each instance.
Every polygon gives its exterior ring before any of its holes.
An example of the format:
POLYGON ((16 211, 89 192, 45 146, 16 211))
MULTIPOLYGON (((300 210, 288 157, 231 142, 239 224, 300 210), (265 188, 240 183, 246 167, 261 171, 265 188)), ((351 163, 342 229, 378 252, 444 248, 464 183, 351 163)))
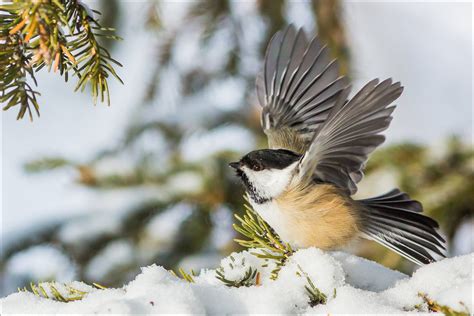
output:
POLYGON ((347 85, 347 79, 339 76, 338 63, 317 37, 308 43, 304 31, 292 25, 277 32, 257 76, 269 147, 304 153, 347 85))

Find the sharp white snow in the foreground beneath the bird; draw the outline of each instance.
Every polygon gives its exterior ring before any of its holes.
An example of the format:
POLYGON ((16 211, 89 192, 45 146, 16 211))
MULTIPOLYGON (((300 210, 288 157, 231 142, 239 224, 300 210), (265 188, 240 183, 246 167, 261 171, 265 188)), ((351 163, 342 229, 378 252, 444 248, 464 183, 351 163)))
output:
POLYGON ((251 252, 255 250, 233 253, 221 260, 219 269, 234 281, 249 268, 257 269, 258 285, 227 287, 213 269, 201 270, 188 283, 151 265, 119 289, 73 282, 71 286, 88 292, 80 301, 61 303, 21 292, 0 303, 4 313, 426 313, 419 297, 425 293, 439 304, 472 311, 472 254, 420 267, 409 277, 354 255, 309 248, 294 253, 272 280, 275 266, 251 252), (327 296, 326 304, 310 306, 306 277, 327 296))

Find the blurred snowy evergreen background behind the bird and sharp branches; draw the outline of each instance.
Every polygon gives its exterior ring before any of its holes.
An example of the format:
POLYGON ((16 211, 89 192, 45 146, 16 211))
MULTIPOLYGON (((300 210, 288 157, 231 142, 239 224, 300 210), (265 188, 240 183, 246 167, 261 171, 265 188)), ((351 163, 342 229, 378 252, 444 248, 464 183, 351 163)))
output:
MULTIPOLYGON (((87 1, 124 38, 111 107, 38 76, 41 118, 2 113, 0 294, 30 281, 121 286, 139 267, 199 270, 239 250, 227 162, 266 146, 254 81, 287 23, 318 33, 361 87, 405 91, 358 197, 400 187, 473 251, 472 5, 455 2, 87 1)), ((352 252, 411 272, 373 242, 352 252)))

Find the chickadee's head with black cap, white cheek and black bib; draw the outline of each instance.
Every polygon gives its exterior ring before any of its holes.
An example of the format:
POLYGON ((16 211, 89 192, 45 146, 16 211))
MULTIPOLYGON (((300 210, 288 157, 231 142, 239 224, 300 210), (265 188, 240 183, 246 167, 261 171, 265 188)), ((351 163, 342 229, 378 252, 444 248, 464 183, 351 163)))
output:
POLYGON ((286 149, 260 149, 229 166, 241 178, 250 198, 261 204, 278 197, 286 189, 300 157, 286 149))

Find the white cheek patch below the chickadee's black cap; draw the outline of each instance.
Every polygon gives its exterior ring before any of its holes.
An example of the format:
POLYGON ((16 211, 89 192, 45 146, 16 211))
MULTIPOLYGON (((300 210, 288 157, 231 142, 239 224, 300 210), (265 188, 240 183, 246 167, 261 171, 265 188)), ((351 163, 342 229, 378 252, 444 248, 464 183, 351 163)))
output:
POLYGON ((296 165, 297 162, 281 170, 270 169, 253 171, 247 167, 243 167, 242 170, 260 196, 274 198, 286 189, 293 177, 293 171, 296 165))

